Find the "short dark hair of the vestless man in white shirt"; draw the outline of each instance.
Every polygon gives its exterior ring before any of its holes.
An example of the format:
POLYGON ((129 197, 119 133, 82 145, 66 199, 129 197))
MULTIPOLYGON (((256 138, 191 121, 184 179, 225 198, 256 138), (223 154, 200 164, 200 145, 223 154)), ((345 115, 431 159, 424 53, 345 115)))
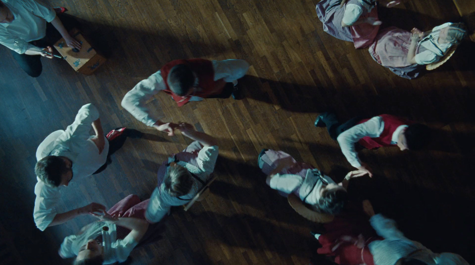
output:
POLYGON ((68 170, 65 161, 56 155, 42 158, 35 166, 35 174, 49 187, 58 187, 61 184, 61 175, 68 170))

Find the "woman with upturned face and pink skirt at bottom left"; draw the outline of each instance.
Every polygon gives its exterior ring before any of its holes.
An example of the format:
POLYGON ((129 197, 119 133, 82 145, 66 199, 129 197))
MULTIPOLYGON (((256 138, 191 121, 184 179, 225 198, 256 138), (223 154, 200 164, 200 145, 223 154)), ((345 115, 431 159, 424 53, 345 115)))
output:
POLYGON ((149 200, 140 201, 129 195, 107 212, 92 213, 99 221, 83 227, 76 235, 67 236, 58 254, 75 257, 74 265, 100 265, 124 262, 132 250, 161 238, 161 224, 149 225, 145 209, 149 200))

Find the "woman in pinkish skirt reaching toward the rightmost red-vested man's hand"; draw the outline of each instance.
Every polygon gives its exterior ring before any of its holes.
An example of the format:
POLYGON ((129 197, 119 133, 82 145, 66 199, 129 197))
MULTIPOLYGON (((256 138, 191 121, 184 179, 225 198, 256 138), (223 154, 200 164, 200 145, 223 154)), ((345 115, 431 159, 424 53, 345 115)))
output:
POLYGON ((267 175, 266 183, 272 189, 287 196, 294 193, 304 203, 318 212, 337 214, 342 211, 348 200, 348 181, 364 175, 364 171, 355 170, 348 173, 340 183, 311 165, 296 162, 283 151, 261 151, 257 159, 259 168, 267 175))

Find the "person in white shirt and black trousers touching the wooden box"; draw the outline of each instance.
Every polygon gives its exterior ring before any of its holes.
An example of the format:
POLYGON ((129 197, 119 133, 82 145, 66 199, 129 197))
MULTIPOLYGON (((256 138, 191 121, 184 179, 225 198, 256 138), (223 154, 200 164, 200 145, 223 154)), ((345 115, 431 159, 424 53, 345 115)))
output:
POLYGON ((55 34, 57 32, 47 28, 47 22, 57 29, 69 47, 81 48, 81 44, 69 35, 52 8, 35 0, 0 0, 0 43, 12 50, 20 67, 32 77, 41 74, 40 56, 52 58, 53 50, 49 46, 60 38, 55 34), (46 49, 38 51, 33 45, 46 49))

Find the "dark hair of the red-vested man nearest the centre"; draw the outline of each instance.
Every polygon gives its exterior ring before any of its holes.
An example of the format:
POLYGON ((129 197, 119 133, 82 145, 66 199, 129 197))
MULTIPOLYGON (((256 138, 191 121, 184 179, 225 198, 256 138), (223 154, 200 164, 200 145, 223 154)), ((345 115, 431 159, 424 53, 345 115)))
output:
POLYGON ((191 68, 184 64, 173 66, 167 77, 171 91, 179 96, 187 95, 190 87, 195 84, 195 75, 191 68))

